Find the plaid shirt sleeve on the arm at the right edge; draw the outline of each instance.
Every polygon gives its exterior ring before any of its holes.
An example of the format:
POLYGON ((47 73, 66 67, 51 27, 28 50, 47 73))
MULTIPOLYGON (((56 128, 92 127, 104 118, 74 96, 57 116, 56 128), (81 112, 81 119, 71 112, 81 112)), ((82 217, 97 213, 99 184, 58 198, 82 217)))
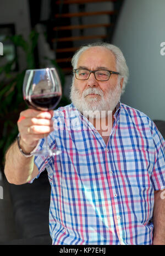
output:
POLYGON ((165 140, 153 124, 153 143, 155 147, 155 164, 151 175, 154 190, 165 189, 165 140))

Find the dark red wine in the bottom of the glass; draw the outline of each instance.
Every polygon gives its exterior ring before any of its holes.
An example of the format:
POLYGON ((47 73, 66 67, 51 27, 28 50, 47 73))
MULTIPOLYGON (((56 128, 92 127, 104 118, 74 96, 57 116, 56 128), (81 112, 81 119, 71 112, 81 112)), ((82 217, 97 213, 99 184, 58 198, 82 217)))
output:
POLYGON ((40 110, 54 109, 60 100, 60 93, 51 93, 50 95, 32 95, 30 97, 30 101, 25 98, 27 106, 40 110))

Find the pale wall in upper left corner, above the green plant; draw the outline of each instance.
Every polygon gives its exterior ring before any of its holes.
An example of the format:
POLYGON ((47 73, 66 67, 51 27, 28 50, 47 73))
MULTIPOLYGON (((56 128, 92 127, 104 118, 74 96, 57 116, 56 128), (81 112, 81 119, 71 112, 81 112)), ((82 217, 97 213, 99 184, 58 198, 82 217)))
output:
MULTIPOLYGON (((15 24, 15 33, 21 34, 25 39, 30 33, 29 4, 27 0, 1 0, 0 2, 0 24, 15 24)), ((25 56, 19 49, 20 70, 26 68, 25 56)))

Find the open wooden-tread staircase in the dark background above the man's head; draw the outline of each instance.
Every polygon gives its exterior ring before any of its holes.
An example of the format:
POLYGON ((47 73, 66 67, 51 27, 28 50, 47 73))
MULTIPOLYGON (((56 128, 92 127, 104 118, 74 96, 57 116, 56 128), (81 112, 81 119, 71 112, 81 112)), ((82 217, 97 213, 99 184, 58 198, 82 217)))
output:
POLYGON ((111 43, 124 0, 53 0, 48 40, 64 74, 81 46, 96 41, 111 43))

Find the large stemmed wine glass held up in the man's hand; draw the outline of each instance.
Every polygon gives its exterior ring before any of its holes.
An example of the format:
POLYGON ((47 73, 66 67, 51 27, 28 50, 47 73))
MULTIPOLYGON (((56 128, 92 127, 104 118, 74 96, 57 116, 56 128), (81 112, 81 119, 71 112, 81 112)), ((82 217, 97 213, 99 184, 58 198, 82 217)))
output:
MULTIPOLYGON (((61 81, 54 67, 26 70, 23 84, 23 97, 27 106, 40 111, 54 109, 62 97, 61 81)), ((58 149, 50 149, 45 137, 46 146, 33 153, 34 155, 58 155, 58 149)))

